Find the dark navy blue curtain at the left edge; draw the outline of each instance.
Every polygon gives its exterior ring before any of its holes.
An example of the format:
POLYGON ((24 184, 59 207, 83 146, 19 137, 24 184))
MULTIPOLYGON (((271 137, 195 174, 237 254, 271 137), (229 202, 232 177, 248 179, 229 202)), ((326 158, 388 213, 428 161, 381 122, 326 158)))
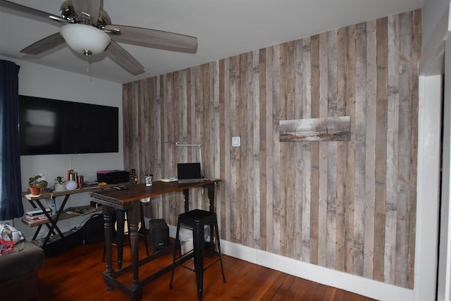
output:
POLYGON ((19 66, 0 60, 0 221, 23 216, 18 133, 19 66))

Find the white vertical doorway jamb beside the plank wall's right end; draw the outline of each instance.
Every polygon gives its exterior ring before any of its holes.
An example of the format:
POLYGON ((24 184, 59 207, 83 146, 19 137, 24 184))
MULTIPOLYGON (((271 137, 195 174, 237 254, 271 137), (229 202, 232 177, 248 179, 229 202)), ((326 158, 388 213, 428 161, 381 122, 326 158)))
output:
POLYGON ((441 76, 419 79, 414 300, 434 300, 437 281, 441 76), (426 100, 427 99, 427 100, 426 100), (426 105, 427 103, 427 105, 426 105))

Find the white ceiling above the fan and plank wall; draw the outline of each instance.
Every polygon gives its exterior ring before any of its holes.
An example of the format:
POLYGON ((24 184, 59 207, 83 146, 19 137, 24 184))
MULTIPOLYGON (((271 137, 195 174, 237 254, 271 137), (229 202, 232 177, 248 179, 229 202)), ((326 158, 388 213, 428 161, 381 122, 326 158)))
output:
MULTIPOLYGON (((63 0, 11 0, 59 16, 63 0)), ((104 0, 111 23, 197 37, 197 54, 121 44, 145 68, 133 76, 109 58, 68 47, 30 57, 20 50, 59 27, 0 11, 0 56, 125 83, 216 61, 327 30, 422 8, 424 0, 104 0)), ((3 8, 0 8, 2 10, 3 8)))

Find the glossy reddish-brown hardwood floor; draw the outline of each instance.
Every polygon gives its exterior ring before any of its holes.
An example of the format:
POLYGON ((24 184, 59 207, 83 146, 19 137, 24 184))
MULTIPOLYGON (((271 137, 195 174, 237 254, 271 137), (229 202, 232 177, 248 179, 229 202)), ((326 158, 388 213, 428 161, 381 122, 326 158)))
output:
MULTIPOLYGON (((143 257, 145 256, 143 243, 140 243, 140 248, 140 257, 143 257)), ((128 300, 127 295, 119 290, 106 290, 101 277, 105 271, 105 263, 101 262, 103 250, 103 242, 92 243, 75 247, 56 257, 47 257, 46 265, 38 271, 37 301, 128 300)), ((115 252, 116 247, 113 247, 113 253, 115 252)), ((130 248, 125 245, 123 266, 130 264, 130 258, 130 248)), ((171 260, 171 255, 165 255, 142 266, 141 278, 152 270, 166 266, 171 260)), ((226 283, 222 282, 219 264, 214 264, 204 272, 202 300, 373 300, 225 255, 223 264, 226 283)), ((115 254, 113 254, 113 268, 117 269, 115 254)), ((128 278, 131 283, 131 275, 125 277, 124 281, 128 281, 128 278)), ((170 279, 171 273, 167 273, 144 286, 142 300, 197 300, 196 278, 192 271, 180 267, 175 269, 172 290, 169 290, 170 279)))

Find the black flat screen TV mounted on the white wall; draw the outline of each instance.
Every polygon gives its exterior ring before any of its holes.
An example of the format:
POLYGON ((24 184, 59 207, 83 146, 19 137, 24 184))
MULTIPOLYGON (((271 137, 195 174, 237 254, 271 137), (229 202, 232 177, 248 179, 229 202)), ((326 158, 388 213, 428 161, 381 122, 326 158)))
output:
POLYGON ((118 152, 119 109, 19 95, 20 155, 118 152))

